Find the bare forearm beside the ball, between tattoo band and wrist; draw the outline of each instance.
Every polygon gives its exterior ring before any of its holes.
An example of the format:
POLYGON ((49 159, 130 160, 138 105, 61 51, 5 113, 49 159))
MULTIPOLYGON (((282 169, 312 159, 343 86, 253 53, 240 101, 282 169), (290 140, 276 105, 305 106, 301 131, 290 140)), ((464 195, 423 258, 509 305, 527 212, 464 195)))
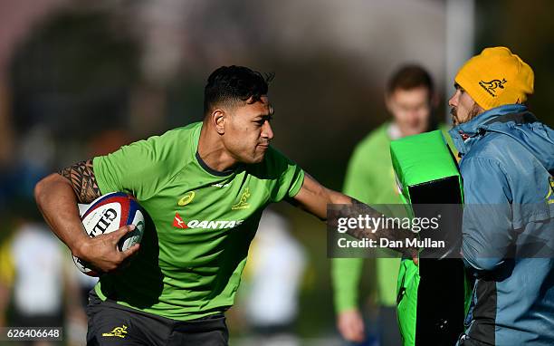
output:
POLYGON ((88 236, 79 217, 77 197, 70 181, 54 173, 43 178, 34 188, 36 204, 44 220, 73 255, 79 256, 88 236))

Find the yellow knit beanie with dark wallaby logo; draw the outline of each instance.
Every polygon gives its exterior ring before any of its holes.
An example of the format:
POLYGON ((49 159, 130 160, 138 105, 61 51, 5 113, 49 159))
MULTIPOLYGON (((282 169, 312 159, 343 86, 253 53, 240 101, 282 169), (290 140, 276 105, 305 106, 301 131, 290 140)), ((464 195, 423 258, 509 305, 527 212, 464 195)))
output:
POLYGON ((454 80, 487 111, 525 102, 533 93, 534 73, 508 48, 493 47, 465 62, 454 80))

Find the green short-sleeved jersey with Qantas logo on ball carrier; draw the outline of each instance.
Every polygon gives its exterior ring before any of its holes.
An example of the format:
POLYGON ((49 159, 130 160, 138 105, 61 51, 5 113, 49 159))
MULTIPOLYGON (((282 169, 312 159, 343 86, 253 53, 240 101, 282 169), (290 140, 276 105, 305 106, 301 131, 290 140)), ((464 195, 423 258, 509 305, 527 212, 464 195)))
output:
POLYGON ((294 197, 304 173, 270 147, 261 163, 215 171, 197 154, 202 123, 95 158, 102 194, 127 192, 151 218, 129 267, 95 287, 105 300, 179 321, 234 303, 263 208, 294 197))

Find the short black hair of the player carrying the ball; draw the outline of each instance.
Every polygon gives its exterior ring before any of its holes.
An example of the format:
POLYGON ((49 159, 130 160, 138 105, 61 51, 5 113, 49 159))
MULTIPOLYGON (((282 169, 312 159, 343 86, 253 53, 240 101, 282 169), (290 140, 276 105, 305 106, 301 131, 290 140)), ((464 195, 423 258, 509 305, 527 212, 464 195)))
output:
POLYGON ((208 77, 204 89, 204 114, 208 114, 216 103, 234 105, 236 102, 260 101, 267 94, 268 83, 274 74, 263 77, 244 66, 221 66, 208 77))

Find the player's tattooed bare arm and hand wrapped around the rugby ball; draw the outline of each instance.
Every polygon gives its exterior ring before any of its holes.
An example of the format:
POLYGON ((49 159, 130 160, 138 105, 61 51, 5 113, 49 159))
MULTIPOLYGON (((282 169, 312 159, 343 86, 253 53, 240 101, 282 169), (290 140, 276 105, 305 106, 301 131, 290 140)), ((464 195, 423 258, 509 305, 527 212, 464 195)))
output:
POLYGON ((130 226, 94 238, 85 233, 77 203, 91 203, 100 195, 91 159, 63 168, 43 178, 34 187, 36 204, 53 233, 70 248, 73 255, 101 271, 109 272, 134 254, 139 246, 135 245, 123 253, 117 249, 119 239, 132 231, 130 226))

